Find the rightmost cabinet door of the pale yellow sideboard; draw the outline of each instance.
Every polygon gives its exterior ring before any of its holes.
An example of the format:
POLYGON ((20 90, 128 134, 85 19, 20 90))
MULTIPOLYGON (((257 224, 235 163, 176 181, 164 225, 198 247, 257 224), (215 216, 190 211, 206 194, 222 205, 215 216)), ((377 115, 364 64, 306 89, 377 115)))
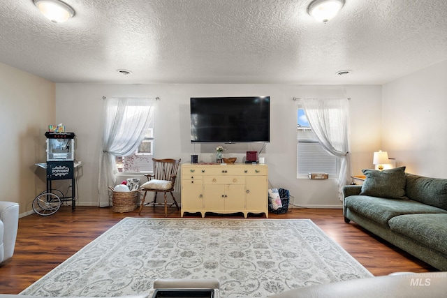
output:
POLYGON ((247 210, 265 210, 268 205, 267 176, 247 176, 246 195, 247 210))

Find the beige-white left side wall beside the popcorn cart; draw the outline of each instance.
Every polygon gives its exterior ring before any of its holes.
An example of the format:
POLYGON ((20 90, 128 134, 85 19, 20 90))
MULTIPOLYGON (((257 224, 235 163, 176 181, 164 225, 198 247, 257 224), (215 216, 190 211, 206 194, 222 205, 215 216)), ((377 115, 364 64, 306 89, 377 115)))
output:
POLYGON ((21 216, 45 190, 45 131, 54 124, 54 83, 0 64, 0 201, 20 204, 21 216))

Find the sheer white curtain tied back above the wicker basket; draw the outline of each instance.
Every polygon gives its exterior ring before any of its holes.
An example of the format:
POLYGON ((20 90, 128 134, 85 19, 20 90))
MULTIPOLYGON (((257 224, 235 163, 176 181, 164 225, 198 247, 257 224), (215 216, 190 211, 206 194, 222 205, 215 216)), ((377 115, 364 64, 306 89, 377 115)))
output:
POLYGON ((103 145, 99 158, 98 206, 111 203, 109 186, 115 186, 115 156, 134 152, 145 137, 156 98, 106 98, 103 110, 103 145))

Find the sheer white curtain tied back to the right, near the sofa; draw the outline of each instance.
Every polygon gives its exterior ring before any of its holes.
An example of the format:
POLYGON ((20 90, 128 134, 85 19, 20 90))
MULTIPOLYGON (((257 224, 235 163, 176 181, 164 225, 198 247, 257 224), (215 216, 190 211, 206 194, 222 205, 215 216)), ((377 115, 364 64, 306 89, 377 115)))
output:
POLYGON ((349 184, 351 177, 349 99, 301 98, 300 104, 321 146, 339 158, 338 189, 342 198, 342 186, 349 184))

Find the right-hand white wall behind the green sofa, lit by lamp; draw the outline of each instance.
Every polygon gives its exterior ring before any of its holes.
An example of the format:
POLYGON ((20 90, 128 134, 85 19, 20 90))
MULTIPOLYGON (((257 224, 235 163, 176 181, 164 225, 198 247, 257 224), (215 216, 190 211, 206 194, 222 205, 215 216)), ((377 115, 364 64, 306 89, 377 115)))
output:
POLYGON ((447 178, 447 61, 383 85, 383 150, 406 172, 447 178))

